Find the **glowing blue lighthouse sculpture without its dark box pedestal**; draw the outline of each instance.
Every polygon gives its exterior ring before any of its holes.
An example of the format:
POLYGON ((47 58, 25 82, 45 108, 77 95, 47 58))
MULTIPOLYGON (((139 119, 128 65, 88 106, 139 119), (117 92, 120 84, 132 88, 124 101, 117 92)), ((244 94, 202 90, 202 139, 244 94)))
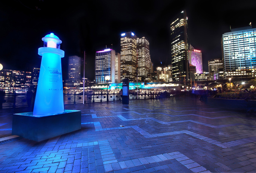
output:
POLYGON ((44 47, 38 48, 42 56, 33 116, 64 112, 61 58, 62 41, 50 33, 42 38, 44 47))

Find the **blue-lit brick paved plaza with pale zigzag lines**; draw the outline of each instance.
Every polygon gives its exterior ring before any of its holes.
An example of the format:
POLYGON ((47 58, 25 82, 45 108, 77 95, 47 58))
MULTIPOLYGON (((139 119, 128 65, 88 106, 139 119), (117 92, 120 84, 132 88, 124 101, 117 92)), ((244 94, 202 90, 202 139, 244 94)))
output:
POLYGON ((256 117, 198 98, 65 105, 81 130, 41 142, 12 135, 25 109, 0 110, 0 172, 256 172, 256 117))

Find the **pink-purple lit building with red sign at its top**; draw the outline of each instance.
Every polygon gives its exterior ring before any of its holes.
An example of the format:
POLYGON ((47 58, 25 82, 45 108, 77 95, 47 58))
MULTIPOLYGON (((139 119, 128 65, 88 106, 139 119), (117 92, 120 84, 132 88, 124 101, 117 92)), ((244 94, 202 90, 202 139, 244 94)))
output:
POLYGON ((192 64, 195 66, 196 73, 202 74, 203 73, 202 51, 197 50, 190 45, 188 59, 189 59, 189 64, 192 64))

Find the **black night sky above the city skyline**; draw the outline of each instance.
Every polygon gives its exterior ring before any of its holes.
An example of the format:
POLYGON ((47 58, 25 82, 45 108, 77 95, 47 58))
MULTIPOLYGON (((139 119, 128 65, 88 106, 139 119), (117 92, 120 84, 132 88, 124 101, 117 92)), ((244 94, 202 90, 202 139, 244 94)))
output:
MULTIPOLYGON (((2 0, 0 1, 0 64, 24 70, 41 63, 38 48, 50 32, 61 40, 63 79, 68 56, 87 53, 86 77, 94 80, 95 52, 112 48, 120 52, 120 35, 132 31, 149 40, 155 67, 171 64, 170 24, 186 10, 189 43, 207 61, 221 58, 220 39, 231 28, 256 27, 255 0, 2 0), (112 44, 112 45, 111 45, 112 44)), ((83 70, 83 68, 82 68, 83 70)), ((83 72, 82 72, 83 74, 83 72)))

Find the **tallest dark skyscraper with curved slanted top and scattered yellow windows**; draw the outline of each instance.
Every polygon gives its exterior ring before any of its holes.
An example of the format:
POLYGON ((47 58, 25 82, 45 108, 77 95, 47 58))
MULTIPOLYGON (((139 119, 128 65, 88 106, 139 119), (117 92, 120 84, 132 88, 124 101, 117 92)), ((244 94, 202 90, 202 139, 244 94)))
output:
POLYGON ((174 81, 189 79, 188 35, 186 11, 179 13, 171 24, 172 76, 174 81), (175 77, 176 76, 176 77, 175 77))

